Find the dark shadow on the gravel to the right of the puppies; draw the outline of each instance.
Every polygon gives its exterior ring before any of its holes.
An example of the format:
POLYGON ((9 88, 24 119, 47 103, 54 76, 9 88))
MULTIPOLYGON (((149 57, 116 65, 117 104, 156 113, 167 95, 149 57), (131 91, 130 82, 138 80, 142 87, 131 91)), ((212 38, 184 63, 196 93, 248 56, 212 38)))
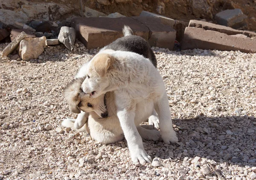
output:
POLYGON ((256 119, 248 116, 206 117, 173 119, 179 142, 143 140, 152 157, 183 161, 195 157, 227 162, 244 167, 256 165, 256 119), (251 119, 250 119, 251 118, 251 119))

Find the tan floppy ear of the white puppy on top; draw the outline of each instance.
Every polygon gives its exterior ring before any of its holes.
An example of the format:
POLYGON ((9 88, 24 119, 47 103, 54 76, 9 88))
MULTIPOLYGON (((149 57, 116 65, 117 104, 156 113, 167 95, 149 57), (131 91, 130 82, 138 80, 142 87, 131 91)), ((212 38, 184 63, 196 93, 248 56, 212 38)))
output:
POLYGON ((108 54, 99 54, 93 62, 94 70, 100 77, 104 77, 113 63, 114 58, 108 54))

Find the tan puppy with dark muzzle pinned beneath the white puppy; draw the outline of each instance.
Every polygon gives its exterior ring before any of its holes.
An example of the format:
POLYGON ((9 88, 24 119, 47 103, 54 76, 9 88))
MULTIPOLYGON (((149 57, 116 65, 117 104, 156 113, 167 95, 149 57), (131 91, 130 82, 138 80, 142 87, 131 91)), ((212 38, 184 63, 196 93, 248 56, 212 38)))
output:
MULTIPOLYGON (((82 81, 82 78, 76 78, 65 89, 67 101, 69 104, 73 104, 81 110, 81 113, 79 113, 77 119, 65 119, 62 125, 75 129, 76 131, 87 131, 92 139, 104 144, 122 140, 124 135, 116 115, 115 96, 113 92, 92 98, 89 94, 81 93, 80 87, 82 81), (90 104, 89 107, 88 104, 90 104), (103 119, 101 112, 97 112, 100 106, 108 107, 108 118, 103 119), (78 129, 76 126, 81 126, 81 128, 78 129)), ((145 105, 142 105, 142 108, 140 110, 141 112, 138 112, 135 123, 137 131, 143 139, 153 141, 161 140, 159 131, 150 130, 151 126, 140 126, 140 123, 144 122, 151 114, 151 111, 147 109, 147 102, 145 102, 145 105)))

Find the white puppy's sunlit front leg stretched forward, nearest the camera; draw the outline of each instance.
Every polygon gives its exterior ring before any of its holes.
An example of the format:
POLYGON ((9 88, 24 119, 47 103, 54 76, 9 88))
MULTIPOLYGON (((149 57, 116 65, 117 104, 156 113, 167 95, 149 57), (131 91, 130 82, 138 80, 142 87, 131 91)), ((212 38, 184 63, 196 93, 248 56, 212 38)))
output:
POLYGON ((116 97, 117 116, 124 132, 125 139, 128 143, 128 148, 131 153, 131 160, 134 163, 151 163, 152 159, 144 150, 141 136, 134 123, 136 105, 132 104, 131 100, 122 101, 119 98, 120 97, 116 97))

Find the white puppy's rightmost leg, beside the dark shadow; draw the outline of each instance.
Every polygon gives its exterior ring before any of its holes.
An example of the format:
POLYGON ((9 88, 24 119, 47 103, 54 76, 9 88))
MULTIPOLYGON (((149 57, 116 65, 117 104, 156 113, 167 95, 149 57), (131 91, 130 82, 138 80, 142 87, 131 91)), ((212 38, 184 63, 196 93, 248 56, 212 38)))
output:
POLYGON ((166 144, 170 144, 171 142, 178 142, 176 132, 172 128, 172 118, 166 91, 164 92, 162 98, 158 99, 157 102, 155 102, 154 107, 159 117, 160 134, 163 138, 163 141, 166 144))

